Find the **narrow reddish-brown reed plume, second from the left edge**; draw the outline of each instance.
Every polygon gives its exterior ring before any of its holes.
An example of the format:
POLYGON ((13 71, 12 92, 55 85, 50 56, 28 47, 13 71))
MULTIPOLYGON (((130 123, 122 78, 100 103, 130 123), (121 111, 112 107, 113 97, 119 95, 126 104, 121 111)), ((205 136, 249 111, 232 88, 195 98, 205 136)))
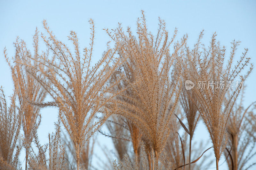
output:
MULTIPOLYGON (((26 43, 19 38, 14 43, 16 54, 12 58, 13 64, 8 59, 6 51, 4 50, 4 57, 9 64, 12 71, 12 79, 14 82, 15 90, 19 98, 19 104, 22 108, 20 114, 22 117, 22 127, 24 132, 24 140, 26 141, 26 167, 28 163, 28 153, 33 140, 32 129, 38 128, 41 115, 39 114, 40 108, 31 105, 28 101, 41 103, 46 97, 46 91, 42 88, 39 82, 26 71, 26 67, 20 63, 31 65, 35 68, 40 68, 40 63, 33 62, 38 57, 38 31, 36 29, 35 35, 33 36, 34 55, 32 56, 30 51, 26 47, 26 43), (32 61, 30 60, 33 59, 32 61)), ((43 53, 43 56, 48 55, 43 53)))

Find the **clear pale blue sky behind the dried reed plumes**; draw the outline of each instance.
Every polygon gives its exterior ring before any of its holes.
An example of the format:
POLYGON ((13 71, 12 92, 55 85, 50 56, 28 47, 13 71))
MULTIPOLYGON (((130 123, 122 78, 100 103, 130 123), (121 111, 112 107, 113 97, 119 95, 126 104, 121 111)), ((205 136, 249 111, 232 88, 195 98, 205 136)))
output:
MULTIPOLYGON (((29 49, 33 50, 32 37, 36 26, 39 31, 43 31, 43 19, 47 20, 51 30, 61 41, 67 42, 69 31, 75 31, 82 49, 89 44, 88 20, 92 18, 96 27, 93 59, 97 61, 106 49, 106 42, 109 41, 108 35, 102 29, 115 28, 118 22, 121 22, 124 28, 131 26, 135 31, 136 20, 140 17, 141 10, 145 11, 148 29, 153 33, 157 31, 159 16, 166 21, 166 28, 170 33, 173 33, 175 27, 178 28, 178 38, 188 33, 190 46, 196 42, 202 29, 205 30, 203 39, 205 44, 209 44, 212 33, 216 31, 217 40, 227 46, 228 50, 232 40, 242 41, 236 57, 240 57, 243 48, 249 48, 248 56, 251 56, 252 63, 256 63, 256 1, 253 0, 75 2, 0 0, 0 51, 3 51, 2 49, 6 46, 8 56, 12 57, 15 54, 13 42, 17 36, 27 43, 29 49)), ((39 42, 40 45, 44 46, 42 41, 39 42)), ((13 89, 11 72, 5 62, 3 52, 0 54, 0 85, 4 87, 6 96, 9 96, 13 89)), ((254 70, 246 81, 245 107, 256 100, 255 78, 256 71, 254 70)), ((42 143, 46 143, 48 133, 54 130, 57 109, 43 109, 41 115, 42 122, 38 129, 39 139, 42 143)), ((207 139, 207 137, 204 125, 200 124, 197 127, 195 140, 207 139)), ((112 144, 109 139, 106 137, 98 139, 99 143, 111 148, 112 144)), ((99 148, 96 148, 95 152, 98 155, 101 154, 99 148)), ((213 155, 212 159, 214 159, 213 155)), ((214 167, 214 164, 211 167, 214 167)), ((226 169, 226 165, 223 164, 220 169, 226 169)))

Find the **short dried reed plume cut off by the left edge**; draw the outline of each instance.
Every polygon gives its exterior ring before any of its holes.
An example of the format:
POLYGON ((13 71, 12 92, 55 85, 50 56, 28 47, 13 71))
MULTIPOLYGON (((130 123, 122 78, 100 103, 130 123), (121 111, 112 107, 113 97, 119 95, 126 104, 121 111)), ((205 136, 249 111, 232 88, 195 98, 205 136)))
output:
POLYGON ((20 133, 20 108, 16 105, 16 93, 10 96, 8 107, 3 87, 0 87, 0 169, 18 168, 20 147, 17 140, 20 133))

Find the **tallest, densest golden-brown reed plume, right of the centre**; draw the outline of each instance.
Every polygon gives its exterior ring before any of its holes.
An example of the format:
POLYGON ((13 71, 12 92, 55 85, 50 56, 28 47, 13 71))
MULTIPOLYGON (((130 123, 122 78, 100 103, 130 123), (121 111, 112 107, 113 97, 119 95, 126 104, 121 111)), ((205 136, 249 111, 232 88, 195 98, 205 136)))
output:
MULTIPOLYGON (((132 91, 132 96, 126 92, 120 94, 124 99, 117 98, 115 106, 118 114, 132 121, 145 136, 154 151, 157 167, 158 156, 163 151, 170 133, 171 115, 179 100, 180 74, 176 74, 174 79, 171 79, 170 74, 172 66, 180 64, 177 52, 184 42, 176 42, 174 52, 169 54, 177 30, 171 41, 168 41, 169 34, 165 30, 165 22, 159 18, 155 39, 147 29, 143 11, 142 17, 137 21, 137 37, 129 27, 125 34, 121 24, 112 32, 108 29, 106 31, 112 41, 119 44, 118 53, 122 58, 126 58, 125 65, 134 75, 133 82, 128 78, 123 80, 124 84, 128 85, 127 89, 132 91), (126 102, 127 100, 129 102, 126 102)), ((154 169, 155 166, 152 167, 154 169)))

